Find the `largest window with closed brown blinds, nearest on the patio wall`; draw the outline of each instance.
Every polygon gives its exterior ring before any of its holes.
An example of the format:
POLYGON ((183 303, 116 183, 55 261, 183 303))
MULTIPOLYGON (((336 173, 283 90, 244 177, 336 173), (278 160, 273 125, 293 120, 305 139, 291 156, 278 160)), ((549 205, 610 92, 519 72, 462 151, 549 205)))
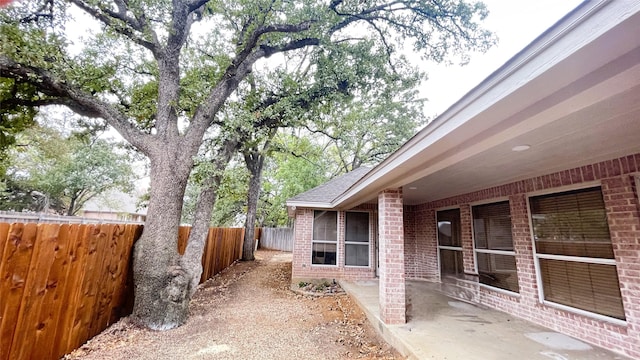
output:
POLYGON ((599 187, 530 198, 544 300, 624 320, 599 187))

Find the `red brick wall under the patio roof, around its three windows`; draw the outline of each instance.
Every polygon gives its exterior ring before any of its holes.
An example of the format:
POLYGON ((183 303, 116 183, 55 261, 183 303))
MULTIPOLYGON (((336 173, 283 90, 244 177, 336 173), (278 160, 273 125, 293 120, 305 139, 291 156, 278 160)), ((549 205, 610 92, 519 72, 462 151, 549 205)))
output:
MULTIPOLYGON (((465 272, 473 272, 469 204, 508 197, 520 293, 494 291, 478 285, 472 286, 469 282, 463 285, 476 291, 474 298, 484 305, 627 356, 640 358, 640 212, 638 190, 632 175, 639 171, 640 154, 635 154, 407 208, 412 214, 418 214, 443 207, 460 206, 465 272), (529 193, 542 190, 555 189, 560 192, 570 185, 602 187, 627 318, 626 326, 543 305, 539 301, 527 197, 529 193)), ((407 259, 437 264, 437 255, 433 250, 436 243, 433 216, 416 215, 413 226, 415 229, 412 233, 416 234, 413 241, 416 243, 410 248, 416 249, 415 251, 425 249, 430 251, 430 255, 424 259, 418 254, 407 254, 407 259)), ((411 269, 421 266, 427 268, 428 265, 407 263, 407 268, 411 269)), ((414 271, 407 275, 437 279, 433 269, 425 273, 414 271)))

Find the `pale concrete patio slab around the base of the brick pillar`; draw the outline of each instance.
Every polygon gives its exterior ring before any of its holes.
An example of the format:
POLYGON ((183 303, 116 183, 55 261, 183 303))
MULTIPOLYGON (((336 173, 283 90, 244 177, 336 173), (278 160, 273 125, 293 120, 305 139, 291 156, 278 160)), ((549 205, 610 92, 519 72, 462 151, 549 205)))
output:
POLYGON ((410 359, 622 360, 598 348, 500 311, 450 298, 433 284, 408 281, 404 325, 380 320, 378 281, 341 281, 382 337, 410 359))

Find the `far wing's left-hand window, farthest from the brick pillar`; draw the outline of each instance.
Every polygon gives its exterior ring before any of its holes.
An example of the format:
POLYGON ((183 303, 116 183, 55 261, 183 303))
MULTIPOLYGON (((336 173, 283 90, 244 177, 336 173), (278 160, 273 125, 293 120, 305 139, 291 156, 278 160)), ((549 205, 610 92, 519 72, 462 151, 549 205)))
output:
POLYGON ((312 264, 336 265, 338 248, 338 213, 315 210, 313 212, 312 264))

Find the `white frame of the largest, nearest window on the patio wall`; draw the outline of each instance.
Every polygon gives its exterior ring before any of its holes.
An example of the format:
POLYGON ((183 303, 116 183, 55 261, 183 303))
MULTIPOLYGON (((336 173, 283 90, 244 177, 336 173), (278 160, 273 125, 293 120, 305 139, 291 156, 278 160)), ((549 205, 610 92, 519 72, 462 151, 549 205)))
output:
MULTIPOLYGON (((542 271, 540 270, 540 259, 547 259, 547 260, 560 260, 560 261, 573 261, 573 262, 580 262, 580 263, 587 263, 587 264, 600 264, 600 265, 614 265, 617 268, 617 264, 616 264, 616 259, 602 259, 602 258, 590 258, 590 257, 577 257, 577 256, 567 256, 567 255, 553 255, 553 254, 539 254, 538 253, 538 249, 536 248, 536 235, 533 231, 533 213, 531 212, 531 198, 532 197, 536 197, 536 196, 541 196, 541 195, 550 195, 550 194, 561 194, 564 192, 569 192, 569 191, 573 191, 573 190, 582 190, 582 189, 589 189, 589 188, 594 188, 594 187, 600 187, 600 192, 602 192, 602 182, 600 181, 589 181, 589 182, 585 182, 585 183, 581 183, 579 185, 568 185, 568 186, 562 186, 562 187, 557 187, 557 188, 553 188, 553 189, 547 189, 547 190, 541 190, 541 191, 535 191, 535 192, 531 192, 531 193, 527 193, 526 194, 526 206, 527 206, 527 216, 529 218, 529 232, 530 232, 530 236, 531 236, 531 245, 532 245, 532 250, 533 250, 533 265, 536 271, 536 281, 538 284, 538 301, 540 302, 540 304, 549 306, 549 307, 553 307, 556 309, 560 309, 563 311, 567 311, 567 312, 571 312, 574 314, 578 314, 578 315, 582 315, 582 316, 586 316, 586 317, 590 317, 596 320, 600 320, 600 321, 605 321, 608 323, 612 323, 615 325, 621 325, 621 326, 626 326, 627 325, 627 321, 626 320, 621 320, 621 319, 617 319, 614 317, 610 317, 610 316, 606 316, 606 315, 602 315, 602 314, 598 314, 592 311, 588 311, 588 310, 583 310, 580 308, 576 308, 573 306, 568 306, 568 305, 564 305, 564 304, 559 304, 550 300, 546 300, 544 298, 544 287, 542 286, 543 284, 543 280, 542 280, 542 271)), ((606 209, 605 209, 606 211, 606 209)), ((611 239, 610 239, 611 240, 611 239)), ((624 301, 623 301, 623 306, 624 306, 624 301)))

